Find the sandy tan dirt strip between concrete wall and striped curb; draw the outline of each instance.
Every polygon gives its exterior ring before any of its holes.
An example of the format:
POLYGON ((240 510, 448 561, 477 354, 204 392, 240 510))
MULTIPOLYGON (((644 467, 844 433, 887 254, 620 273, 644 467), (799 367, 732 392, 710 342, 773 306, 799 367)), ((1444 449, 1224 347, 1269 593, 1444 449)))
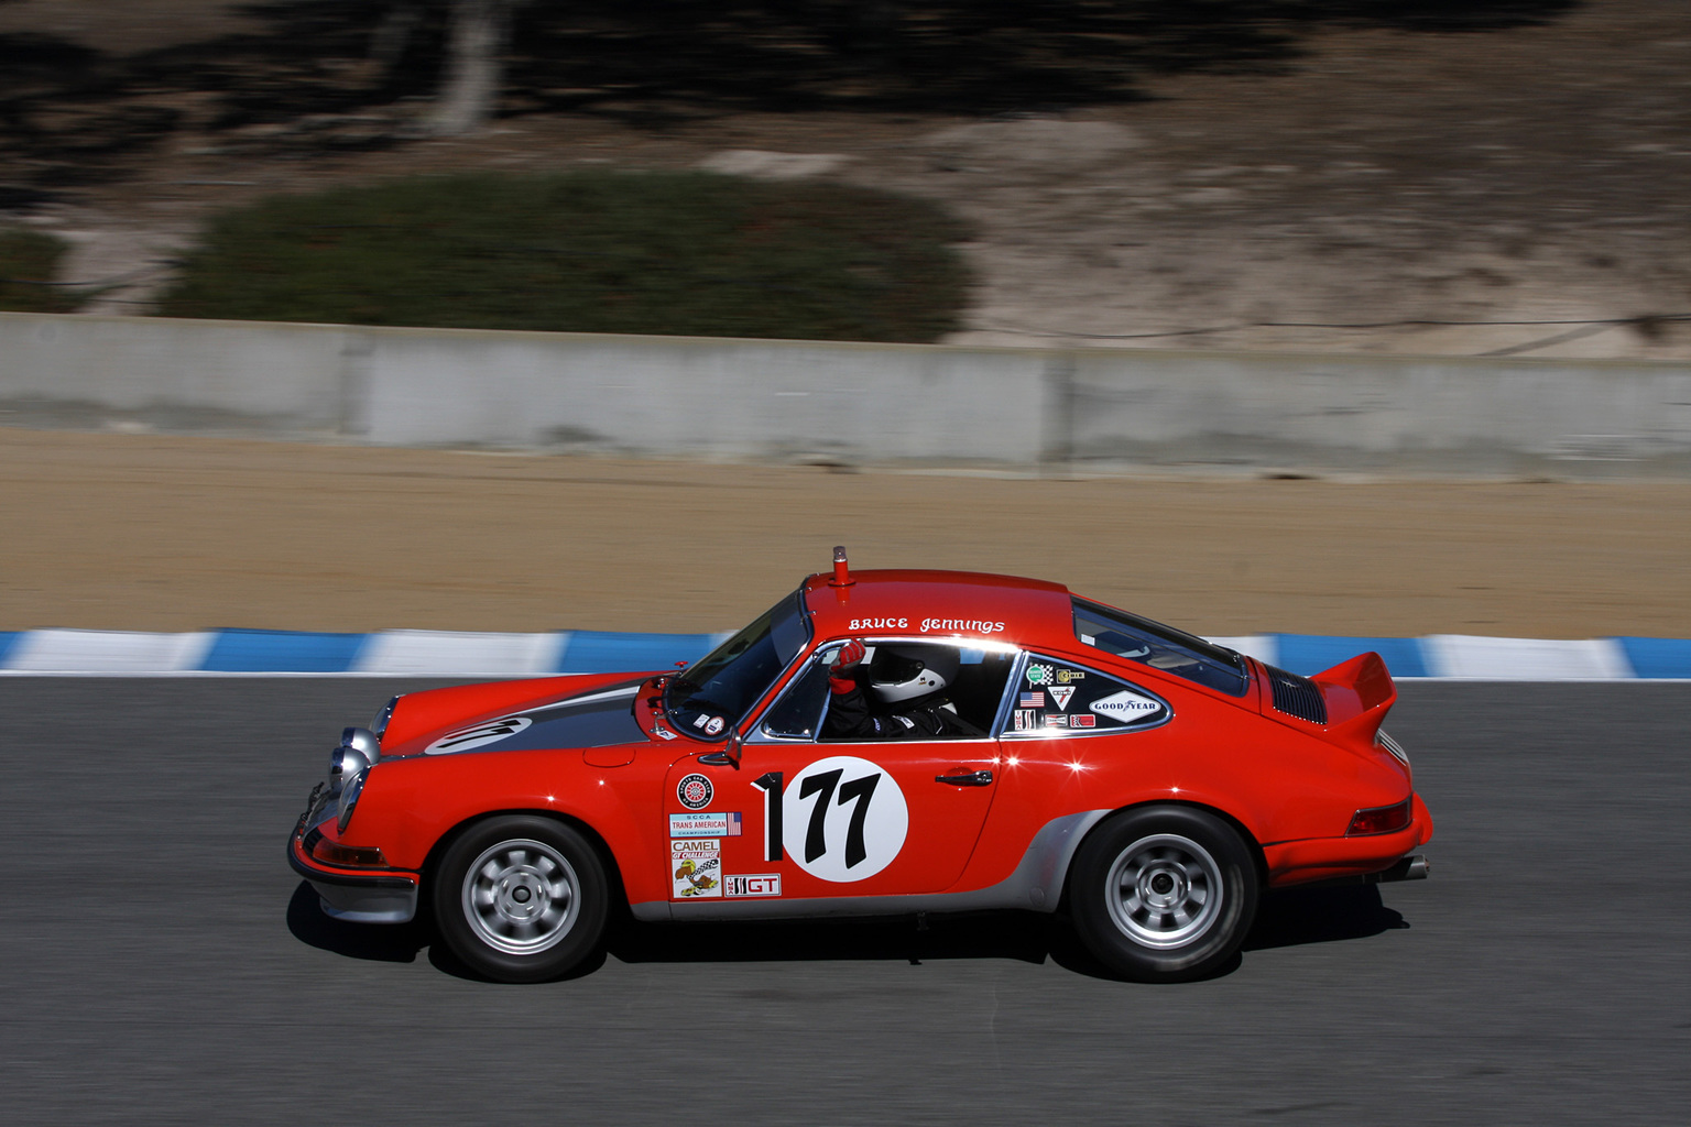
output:
POLYGON ((0 630, 722 630, 829 566, 1206 634, 1691 637, 1691 485, 832 473, 0 427, 0 630))

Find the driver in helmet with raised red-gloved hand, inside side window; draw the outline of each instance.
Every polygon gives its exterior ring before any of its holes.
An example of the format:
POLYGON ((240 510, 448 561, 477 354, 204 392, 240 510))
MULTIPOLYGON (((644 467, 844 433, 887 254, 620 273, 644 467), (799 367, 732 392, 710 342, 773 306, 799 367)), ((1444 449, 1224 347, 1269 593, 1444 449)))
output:
POLYGON ((945 686, 957 679, 957 651, 949 645, 876 645, 862 666, 862 640, 852 639, 829 666, 829 715, 824 740, 933 740, 986 735, 957 715, 945 686), (867 681, 867 693, 859 681, 867 681))

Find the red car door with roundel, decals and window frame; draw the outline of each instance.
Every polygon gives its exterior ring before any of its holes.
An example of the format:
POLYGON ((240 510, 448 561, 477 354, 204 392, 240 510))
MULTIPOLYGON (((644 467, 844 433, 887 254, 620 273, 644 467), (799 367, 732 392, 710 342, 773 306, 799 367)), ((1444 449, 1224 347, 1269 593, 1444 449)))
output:
POLYGON ((1013 654, 960 651, 952 688, 979 737, 830 740, 835 649, 818 647, 754 723, 737 770, 697 757, 671 769, 673 899, 905 896, 962 874, 993 804, 989 733, 1013 654))

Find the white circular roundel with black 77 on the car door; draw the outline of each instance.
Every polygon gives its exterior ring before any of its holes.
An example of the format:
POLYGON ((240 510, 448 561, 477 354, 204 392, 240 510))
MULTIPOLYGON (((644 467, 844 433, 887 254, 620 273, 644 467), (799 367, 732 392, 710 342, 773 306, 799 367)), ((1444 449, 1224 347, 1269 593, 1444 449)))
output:
POLYGON ((812 877, 847 884, 893 863, 910 808, 886 770, 830 755, 800 770, 781 796, 781 848, 812 877))

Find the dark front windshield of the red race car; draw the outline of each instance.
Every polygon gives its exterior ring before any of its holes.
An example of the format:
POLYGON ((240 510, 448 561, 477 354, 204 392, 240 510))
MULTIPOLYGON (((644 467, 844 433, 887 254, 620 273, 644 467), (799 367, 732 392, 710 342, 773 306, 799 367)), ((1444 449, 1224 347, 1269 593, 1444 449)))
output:
POLYGON ((665 689, 670 723, 702 740, 725 737, 807 642, 810 617, 803 591, 795 591, 671 678, 665 689))

